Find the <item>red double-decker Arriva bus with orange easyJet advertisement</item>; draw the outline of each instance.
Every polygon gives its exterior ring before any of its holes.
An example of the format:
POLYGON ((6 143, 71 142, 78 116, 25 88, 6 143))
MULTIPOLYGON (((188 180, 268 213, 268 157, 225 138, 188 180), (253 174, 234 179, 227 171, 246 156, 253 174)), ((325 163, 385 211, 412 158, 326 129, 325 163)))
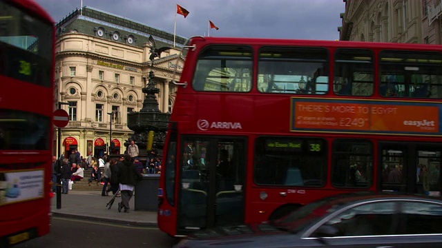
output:
POLYGON ((159 188, 171 236, 368 190, 440 195, 442 47, 193 37, 159 188))

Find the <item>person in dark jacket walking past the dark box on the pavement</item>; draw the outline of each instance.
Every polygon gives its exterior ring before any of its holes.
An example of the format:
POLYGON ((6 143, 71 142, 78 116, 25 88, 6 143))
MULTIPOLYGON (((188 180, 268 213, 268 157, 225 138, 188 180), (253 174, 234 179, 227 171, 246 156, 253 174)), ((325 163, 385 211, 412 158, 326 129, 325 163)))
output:
POLYGON ((118 203, 118 211, 129 212, 129 200, 133 196, 133 189, 137 179, 141 179, 143 174, 133 165, 131 155, 126 154, 122 165, 119 166, 118 181, 119 190, 122 194, 122 201, 118 203))

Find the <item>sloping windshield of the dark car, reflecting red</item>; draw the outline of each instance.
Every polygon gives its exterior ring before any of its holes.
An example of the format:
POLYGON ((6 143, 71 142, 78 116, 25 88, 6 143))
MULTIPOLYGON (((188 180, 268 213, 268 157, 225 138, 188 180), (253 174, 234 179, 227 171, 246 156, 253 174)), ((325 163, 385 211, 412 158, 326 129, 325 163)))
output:
POLYGON ((340 205, 345 203, 344 201, 336 201, 333 199, 336 198, 332 197, 317 200, 316 202, 296 209, 296 211, 291 212, 291 214, 285 217, 272 221, 270 224, 279 229, 297 233, 318 219, 323 218, 323 216, 336 211, 340 205))

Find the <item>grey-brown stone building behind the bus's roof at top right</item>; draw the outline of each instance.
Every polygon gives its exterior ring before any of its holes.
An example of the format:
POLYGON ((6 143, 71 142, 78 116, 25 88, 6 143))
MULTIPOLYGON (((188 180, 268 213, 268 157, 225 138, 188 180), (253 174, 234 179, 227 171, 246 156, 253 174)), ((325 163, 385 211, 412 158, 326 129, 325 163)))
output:
POLYGON ((341 41, 442 44, 436 0, 343 0, 341 41))

